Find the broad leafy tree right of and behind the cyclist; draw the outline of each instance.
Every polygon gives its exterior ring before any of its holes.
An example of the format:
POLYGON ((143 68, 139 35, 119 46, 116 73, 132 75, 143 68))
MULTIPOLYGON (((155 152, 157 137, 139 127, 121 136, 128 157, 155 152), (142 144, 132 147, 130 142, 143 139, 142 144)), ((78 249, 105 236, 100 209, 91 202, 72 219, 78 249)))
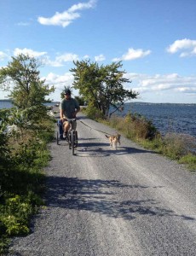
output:
POLYGON ((79 95, 102 113, 107 119, 109 109, 113 112, 119 110, 124 102, 136 98, 138 93, 125 90, 123 84, 130 83, 124 78, 124 71, 120 71, 123 65, 121 61, 112 62, 111 65, 99 67, 96 62, 73 61, 76 67, 70 71, 73 73, 73 87, 79 90, 79 95))

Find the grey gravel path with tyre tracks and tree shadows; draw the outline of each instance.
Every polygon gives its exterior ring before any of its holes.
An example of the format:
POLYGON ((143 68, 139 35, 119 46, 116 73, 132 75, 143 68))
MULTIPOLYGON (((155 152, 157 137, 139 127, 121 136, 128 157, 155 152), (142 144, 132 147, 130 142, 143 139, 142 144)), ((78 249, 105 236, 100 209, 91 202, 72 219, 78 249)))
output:
POLYGON ((49 144, 46 207, 9 255, 196 255, 196 174, 78 117, 76 155, 49 144))

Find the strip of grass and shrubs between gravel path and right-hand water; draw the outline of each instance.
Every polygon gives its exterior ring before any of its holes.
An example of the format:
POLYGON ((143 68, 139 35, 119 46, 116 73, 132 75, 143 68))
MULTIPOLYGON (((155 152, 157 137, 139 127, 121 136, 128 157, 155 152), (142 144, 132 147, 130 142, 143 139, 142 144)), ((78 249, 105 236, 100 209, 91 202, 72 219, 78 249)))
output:
POLYGON ((124 118, 112 116, 106 120, 101 119, 101 117, 95 118, 95 115, 89 112, 87 114, 91 119, 115 128, 124 134, 124 137, 144 148, 163 154, 172 160, 177 160, 180 164, 186 165, 192 172, 196 171, 195 137, 180 133, 167 133, 162 136, 152 121, 138 113, 127 113, 124 118))

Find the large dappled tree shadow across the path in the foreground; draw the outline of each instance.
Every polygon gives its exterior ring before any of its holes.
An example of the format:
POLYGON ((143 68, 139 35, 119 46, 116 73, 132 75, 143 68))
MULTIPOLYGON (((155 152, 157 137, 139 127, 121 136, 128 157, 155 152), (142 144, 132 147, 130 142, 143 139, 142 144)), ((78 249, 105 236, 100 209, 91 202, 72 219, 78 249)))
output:
POLYGON ((126 194, 129 193, 129 189, 148 189, 147 186, 139 184, 129 185, 120 183, 118 180, 53 176, 48 179, 48 188, 46 203, 49 207, 95 212, 110 218, 124 218, 125 220, 137 218, 138 215, 175 216, 186 220, 195 220, 185 215, 176 215, 175 212, 160 207, 159 201, 153 199, 118 201, 117 193, 118 195, 124 193, 124 189, 126 194))

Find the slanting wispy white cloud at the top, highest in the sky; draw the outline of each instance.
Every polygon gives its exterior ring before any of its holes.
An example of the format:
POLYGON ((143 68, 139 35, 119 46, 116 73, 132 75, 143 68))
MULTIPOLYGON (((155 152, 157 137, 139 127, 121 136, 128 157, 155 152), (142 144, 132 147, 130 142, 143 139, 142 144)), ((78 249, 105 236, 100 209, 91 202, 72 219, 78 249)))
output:
POLYGON ((66 27, 72 23, 72 20, 76 20, 81 16, 76 11, 83 9, 92 9, 95 7, 95 3, 96 0, 90 0, 87 3, 74 4, 70 9, 67 9, 65 12, 56 12, 55 15, 50 18, 38 17, 37 21, 42 25, 66 27))

